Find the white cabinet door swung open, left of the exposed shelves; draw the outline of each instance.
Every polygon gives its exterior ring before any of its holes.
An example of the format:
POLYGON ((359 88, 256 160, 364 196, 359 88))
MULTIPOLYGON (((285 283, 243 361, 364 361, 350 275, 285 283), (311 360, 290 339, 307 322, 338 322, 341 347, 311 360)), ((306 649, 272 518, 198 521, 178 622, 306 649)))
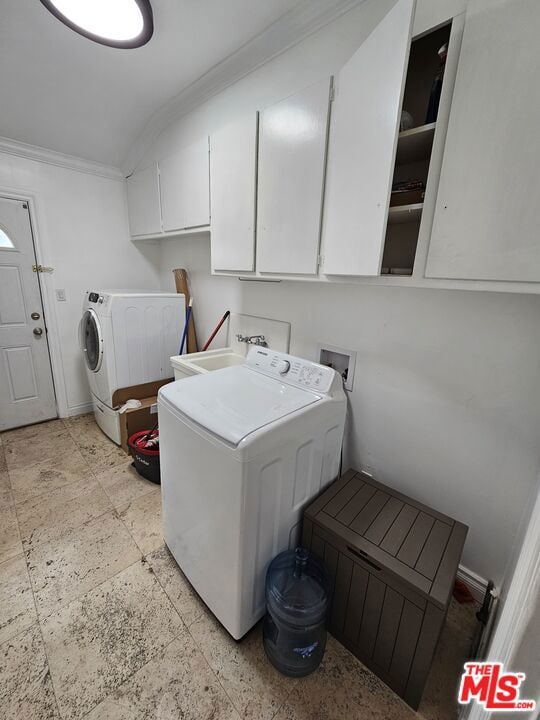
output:
POLYGON ((378 275, 414 0, 397 0, 341 69, 332 108, 323 271, 378 275))

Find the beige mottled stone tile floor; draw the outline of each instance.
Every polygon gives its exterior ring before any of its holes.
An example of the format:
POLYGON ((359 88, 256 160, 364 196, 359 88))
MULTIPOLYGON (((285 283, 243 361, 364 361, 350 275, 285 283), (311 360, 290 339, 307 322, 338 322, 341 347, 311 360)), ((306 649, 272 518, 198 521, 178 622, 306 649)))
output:
POLYGON ((260 625, 236 643, 161 537, 160 489, 91 416, 0 435, 0 714, 5 720, 455 718, 474 629, 452 603, 419 713, 333 638, 291 680, 260 625))

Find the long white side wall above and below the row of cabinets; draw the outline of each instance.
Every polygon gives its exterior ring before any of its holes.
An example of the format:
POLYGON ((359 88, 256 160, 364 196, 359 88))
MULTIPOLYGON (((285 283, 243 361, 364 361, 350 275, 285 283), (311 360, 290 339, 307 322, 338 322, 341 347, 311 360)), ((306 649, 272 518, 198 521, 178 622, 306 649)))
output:
MULTIPOLYGON (((226 89, 172 124, 141 165, 337 72, 365 13, 390 5, 366 2, 226 89)), ((416 31, 463 5, 419 2, 416 31)), ((464 565, 501 582, 540 469, 539 297, 213 278, 206 236, 162 243, 160 263, 164 288, 173 267, 189 270, 204 338, 230 309, 290 321, 299 355, 313 358, 318 341, 356 350, 346 464, 470 525, 464 565)))

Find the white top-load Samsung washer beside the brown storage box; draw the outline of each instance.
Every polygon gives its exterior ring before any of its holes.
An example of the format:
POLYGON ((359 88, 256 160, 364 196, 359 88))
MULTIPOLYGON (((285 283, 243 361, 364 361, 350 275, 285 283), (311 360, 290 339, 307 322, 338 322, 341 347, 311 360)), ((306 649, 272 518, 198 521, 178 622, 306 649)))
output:
POLYGON ((343 381, 257 347, 243 365, 165 385, 158 412, 165 542, 239 639, 264 614, 270 561, 339 472, 343 381))

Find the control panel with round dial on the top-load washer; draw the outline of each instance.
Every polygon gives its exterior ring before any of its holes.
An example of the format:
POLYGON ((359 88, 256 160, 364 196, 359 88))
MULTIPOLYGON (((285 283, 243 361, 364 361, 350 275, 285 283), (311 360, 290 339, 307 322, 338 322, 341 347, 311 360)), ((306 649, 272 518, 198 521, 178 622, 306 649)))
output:
POLYGON ((325 365, 259 347, 250 350, 246 365, 289 385, 321 393, 330 392, 337 376, 335 370, 325 365))

